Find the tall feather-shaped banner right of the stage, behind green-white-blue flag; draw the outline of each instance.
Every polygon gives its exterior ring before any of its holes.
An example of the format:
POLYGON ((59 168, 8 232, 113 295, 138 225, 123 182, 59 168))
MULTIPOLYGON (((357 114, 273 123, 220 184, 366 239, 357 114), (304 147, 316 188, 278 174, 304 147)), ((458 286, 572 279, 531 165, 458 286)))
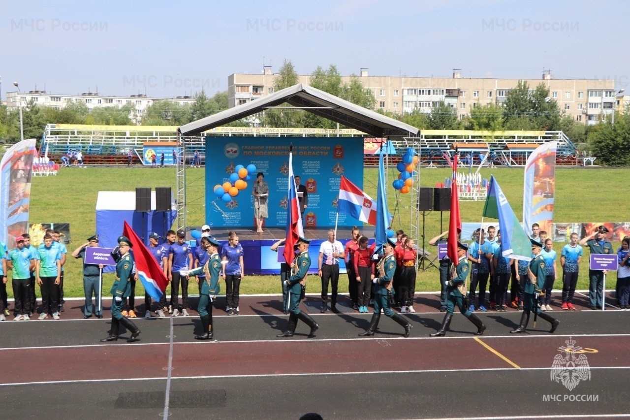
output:
POLYGON ((553 223, 554 190, 556 187, 557 141, 541 144, 525 162, 523 190, 523 225, 532 235, 532 225, 550 232, 553 223))

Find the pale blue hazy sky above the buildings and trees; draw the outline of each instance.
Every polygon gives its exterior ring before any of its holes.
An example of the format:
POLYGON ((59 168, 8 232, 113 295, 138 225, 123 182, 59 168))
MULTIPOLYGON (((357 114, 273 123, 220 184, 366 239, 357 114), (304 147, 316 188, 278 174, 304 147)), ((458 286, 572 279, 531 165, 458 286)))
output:
POLYGON ((318 0, 0 3, 2 98, 21 90, 172 97, 232 73, 616 79, 630 84, 630 1, 318 0))

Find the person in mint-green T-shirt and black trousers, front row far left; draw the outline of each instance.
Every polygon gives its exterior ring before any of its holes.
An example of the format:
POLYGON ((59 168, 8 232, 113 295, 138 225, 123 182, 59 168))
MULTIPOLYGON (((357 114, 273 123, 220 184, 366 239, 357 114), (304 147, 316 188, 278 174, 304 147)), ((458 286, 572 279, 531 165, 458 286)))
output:
POLYGON ((11 269, 13 278, 14 321, 30 320, 28 311, 30 310, 31 271, 35 267, 33 254, 24 249, 24 238, 21 235, 15 238, 15 248, 9 251, 7 259, 7 269, 11 269))

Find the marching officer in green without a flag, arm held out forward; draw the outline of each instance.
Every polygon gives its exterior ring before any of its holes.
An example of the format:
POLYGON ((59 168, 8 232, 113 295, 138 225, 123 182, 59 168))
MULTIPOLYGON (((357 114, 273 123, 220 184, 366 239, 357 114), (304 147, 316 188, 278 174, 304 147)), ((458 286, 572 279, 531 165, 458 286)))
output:
POLYGON ((219 295, 221 286, 219 286, 219 272, 221 271, 221 257, 219 257, 219 246, 221 244, 211 236, 201 238, 201 247, 206 250, 210 258, 202 267, 194 270, 182 271, 181 275, 185 277, 198 276, 204 273, 205 278, 197 277, 197 281, 202 281, 201 294, 199 296, 199 305, 197 312, 201 318, 203 332, 195 335, 197 340, 212 340, 214 333, 212 331, 212 301, 219 295))

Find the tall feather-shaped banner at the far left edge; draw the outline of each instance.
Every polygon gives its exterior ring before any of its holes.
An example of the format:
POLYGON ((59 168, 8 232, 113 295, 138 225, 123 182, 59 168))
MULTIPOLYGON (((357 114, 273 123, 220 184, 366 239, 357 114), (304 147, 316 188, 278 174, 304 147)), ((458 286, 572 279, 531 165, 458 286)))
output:
POLYGON ((15 247, 15 237, 28 231, 31 172, 35 139, 16 143, 0 162, 0 241, 7 249, 15 247))

